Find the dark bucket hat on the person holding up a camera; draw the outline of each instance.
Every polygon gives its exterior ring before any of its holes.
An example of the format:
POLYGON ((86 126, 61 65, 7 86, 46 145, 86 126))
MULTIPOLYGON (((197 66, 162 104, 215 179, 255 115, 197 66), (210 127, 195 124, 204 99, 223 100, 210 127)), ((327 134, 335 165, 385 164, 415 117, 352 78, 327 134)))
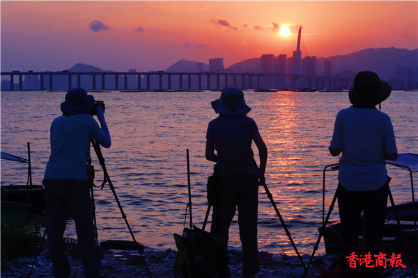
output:
POLYGON ((87 95, 81 87, 72 88, 65 95, 65 101, 61 103, 61 111, 64 114, 86 114, 93 109, 94 98, 87 95))

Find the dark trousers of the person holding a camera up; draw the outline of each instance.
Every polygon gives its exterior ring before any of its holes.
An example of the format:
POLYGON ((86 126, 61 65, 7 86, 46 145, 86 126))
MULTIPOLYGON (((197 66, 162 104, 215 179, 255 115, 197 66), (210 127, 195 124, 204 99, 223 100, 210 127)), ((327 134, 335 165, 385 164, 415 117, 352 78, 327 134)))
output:
POLYGON ((42 183, 45 186, 49 256, 54 265, 54 277, 70 277, 70 265, 63 243, 68 210, 75 221, 84 275, 85 277, 100 277, 100 258, 95 244, 93 207, 86 182, 47 179, 42 183))

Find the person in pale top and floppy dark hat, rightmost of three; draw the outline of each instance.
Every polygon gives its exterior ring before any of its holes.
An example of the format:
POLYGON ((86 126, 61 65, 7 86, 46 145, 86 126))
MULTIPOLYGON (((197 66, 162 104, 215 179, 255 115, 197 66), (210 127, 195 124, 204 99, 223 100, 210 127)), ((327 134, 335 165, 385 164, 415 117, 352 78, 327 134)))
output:
MULTIPOLYGON (((351 104, 336 115, 329 147, 339 160, 337 196, 341 220, 341 275, 355 277, 349 260, 355 259, 361 214, 364 211, 364 240, 371 257, 380 252, 385 223, 390 178, 385 160, 396 160, 394 129, 389 116, 378 109, 391 93, 389 84, 375 72, 359 72, 350 88, 351 104)), ((357 258, 359 254, 357 254, 357 258)), ((367 268, 367 277, 376 276, 376 268, 367 268)))

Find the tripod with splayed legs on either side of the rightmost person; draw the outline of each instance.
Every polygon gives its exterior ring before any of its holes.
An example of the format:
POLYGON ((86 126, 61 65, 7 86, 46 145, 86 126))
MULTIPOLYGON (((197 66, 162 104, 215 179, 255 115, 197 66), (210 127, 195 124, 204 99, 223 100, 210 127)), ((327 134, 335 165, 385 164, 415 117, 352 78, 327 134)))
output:
MULTIPOLYGON (((390 181, 390 178, 389 178, 389 181, 390 181)), ((388 181, 388 183, 389 183, 389 181, 388 181)), ((311 255, 311 258, 309 259, 309 263, 307 265, 307 268, 305 268, 305 277, 308 274, 308 270, 309 270, 309 267, 311 265, 312 259, 314 259, 315 252, 316 252, 316 250, 318 250, 318 245, 320 243, 320 238, 322 238, 323 232, 325 231, 325 227, 327 226, 327 222, 330 219, 330 215, 332 213, 332 210, 334 209, 334 204, 335 204, 336 198, 338 197, 338 194, 339 194, 339 190, 337 188, 335 190, 334 197, 332 198, 332 202, 331 202, 331 205, 330 205, 330 209, 328 210, 327 217, 325 218, 325 220, 323 220, 322 227, 319 230, 319 236, 318 236, 318 240, 316 240, 316 244, 314 246, 314 252, 312 252, 312 255, 311 255)), ((409 259, 408 261, 410 261, 410 249, 408 247, 408 244, 407 244, 407 241, 406 241, 406 238, 405 238, 405 234, 403 233, 403 230, 402 230, 402 227, 401 227, 401 221, 399 220, 399 216, 398 216, 398 213, 397 213, 396 208, 395 208, 394 198, 392 196, 392 193, 391 193, 391 190, 390 190, 389 186, 388 186, 388 195, 389 195, 390 202, 392 204, 392 208, 394 209, 394 215, 395 215, 398 227, 399 227, 399 231, 401 233, 401 238, 403 240, 403 245, 406 249, 407 259, 409 259)), ((411 270, 412 270, 412 275, 414 275, 414 277, 416 278, 417 275, 415 274, 414 266, 412 265, 411 261, 410 261, 410 266, 411 266, 411 270)))

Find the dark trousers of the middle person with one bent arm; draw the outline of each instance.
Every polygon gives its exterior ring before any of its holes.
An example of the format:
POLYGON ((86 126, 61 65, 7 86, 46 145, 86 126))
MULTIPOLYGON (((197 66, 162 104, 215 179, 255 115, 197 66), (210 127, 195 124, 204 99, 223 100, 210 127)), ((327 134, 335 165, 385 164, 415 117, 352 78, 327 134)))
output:
POLYGON ((258 177, 238 175, 222 177, 219 202, 212 213, 210 231, 217 234, 228 247, 229 226, 238 208, 238 226, 242 244, 242 272, 256 274, 258 267, 257 219, 258 219, 258 177))

